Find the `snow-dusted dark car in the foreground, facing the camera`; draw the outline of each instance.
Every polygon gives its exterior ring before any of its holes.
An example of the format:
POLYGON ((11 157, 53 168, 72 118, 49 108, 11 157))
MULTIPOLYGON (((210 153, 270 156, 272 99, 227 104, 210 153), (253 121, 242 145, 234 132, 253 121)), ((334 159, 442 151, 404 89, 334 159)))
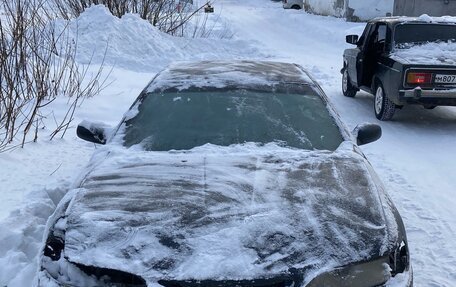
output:
POLYGON ((39 286, 411 286, 402 219, 300 66, 171 65, 48 221, 39 286))

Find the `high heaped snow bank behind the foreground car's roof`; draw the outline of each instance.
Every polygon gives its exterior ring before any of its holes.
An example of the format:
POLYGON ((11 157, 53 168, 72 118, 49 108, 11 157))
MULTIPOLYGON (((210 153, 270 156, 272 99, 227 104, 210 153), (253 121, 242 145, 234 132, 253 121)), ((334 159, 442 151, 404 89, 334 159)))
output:
MULTIPOLYGON (((60 21, 62 27, 67 22, 60 21)), ((70 38, 77 42, 80 63, 158 71, 176 60, 258 58, 261 53, 241 40, 188 39, 167 35, 135 14, 117 18, 96 5, 69 24, 70 38)))

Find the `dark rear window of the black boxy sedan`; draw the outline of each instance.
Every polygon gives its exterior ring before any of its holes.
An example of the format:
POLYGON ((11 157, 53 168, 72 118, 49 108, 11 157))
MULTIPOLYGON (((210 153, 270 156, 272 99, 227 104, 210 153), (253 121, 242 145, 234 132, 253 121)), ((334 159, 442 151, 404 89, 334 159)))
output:
POLYGON ((399 48, 428 42, 456 41, 454 24, 403 24, 397 25, 394 41, 399 48))

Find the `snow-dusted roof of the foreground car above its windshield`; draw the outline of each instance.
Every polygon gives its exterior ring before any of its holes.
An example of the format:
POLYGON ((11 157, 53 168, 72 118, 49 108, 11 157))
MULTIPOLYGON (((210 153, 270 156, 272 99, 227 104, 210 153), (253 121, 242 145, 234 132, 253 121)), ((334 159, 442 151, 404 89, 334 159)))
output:
POLYGON ((191 88, 259 88, 284 84, 314 86, 315 82, 296 64, 272 61, 176 62, 160 72, 146 92, 191 88))

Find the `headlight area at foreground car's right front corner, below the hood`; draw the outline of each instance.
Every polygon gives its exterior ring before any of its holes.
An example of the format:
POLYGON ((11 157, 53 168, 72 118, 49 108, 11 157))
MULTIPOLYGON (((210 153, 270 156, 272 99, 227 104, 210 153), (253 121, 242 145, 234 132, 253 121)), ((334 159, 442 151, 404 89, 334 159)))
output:
POLYGON ((408 249, 404 242, 390 254, 375 260, 334 269, 315 277, 306 287, 374 287, 409 269, 408 249))

